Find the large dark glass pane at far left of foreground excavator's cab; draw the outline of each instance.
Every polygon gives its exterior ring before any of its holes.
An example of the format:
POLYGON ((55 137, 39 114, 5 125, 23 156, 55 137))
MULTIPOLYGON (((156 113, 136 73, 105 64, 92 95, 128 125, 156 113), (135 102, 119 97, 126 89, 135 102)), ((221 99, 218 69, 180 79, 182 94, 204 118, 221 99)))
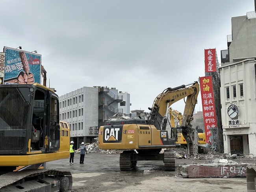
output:
MULTIPOLYGON (((30 91, 25 87, 0 89, 0 152, 26 150, 30 91)), ((15 153, 15 152, 14 152, 15 153)))

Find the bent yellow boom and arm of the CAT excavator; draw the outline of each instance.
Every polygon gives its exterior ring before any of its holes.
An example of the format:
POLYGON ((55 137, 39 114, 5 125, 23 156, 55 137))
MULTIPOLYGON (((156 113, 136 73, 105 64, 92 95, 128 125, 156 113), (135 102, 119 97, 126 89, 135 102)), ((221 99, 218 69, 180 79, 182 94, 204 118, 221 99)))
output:
POLYGON ((167 109, 173 103, 186 98, 186 105, 180 127, 182 128, 182 135, 187 142, 189 154, 191 155, 197 155, 198 153, 198 134, 191 125, 198 94, 199 84, 197 81, 188 85, 167 88, 156 97, 152 108, 148 108, 151 111, 148 118, 149 124, 153 124, 157 129, 165 130, 167 123, 165 114, 167 113, 167 109))

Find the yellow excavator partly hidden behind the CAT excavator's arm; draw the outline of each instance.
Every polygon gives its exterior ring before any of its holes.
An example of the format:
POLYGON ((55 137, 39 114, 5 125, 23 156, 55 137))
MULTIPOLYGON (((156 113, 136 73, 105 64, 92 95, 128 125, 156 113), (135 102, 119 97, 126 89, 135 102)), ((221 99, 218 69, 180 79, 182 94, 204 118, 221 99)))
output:
MULTIPOLYGON (((180 127, 180 124, 182 124, 182 113, 178 112, 175 109, 172 109, 171 107, 168 109, 169 115, 170 115, 170 122, 171 122, 171 128, 174 129, 174 132, 176 132, 176 145, 181 145, 187 147, 187 142, 182 134, 182 128, 180 127), (175 120, 177 120, 177 124, 175 125, 175 120)), ((204 145, 206 144, 206 135, 203 131, 203 129, 200 129, 199 126, 196 126, 195 129, 198 133, 198 153, 204 152, 204 145)))

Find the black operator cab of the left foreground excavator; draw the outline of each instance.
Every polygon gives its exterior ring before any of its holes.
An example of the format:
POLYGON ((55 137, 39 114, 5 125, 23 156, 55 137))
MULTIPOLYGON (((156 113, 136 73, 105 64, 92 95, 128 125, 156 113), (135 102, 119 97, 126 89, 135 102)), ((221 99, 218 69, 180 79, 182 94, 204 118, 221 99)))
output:
POLYGON ((0 153, 58 151, 58 109, 58 96, 40 85, 2 85, 0 153))

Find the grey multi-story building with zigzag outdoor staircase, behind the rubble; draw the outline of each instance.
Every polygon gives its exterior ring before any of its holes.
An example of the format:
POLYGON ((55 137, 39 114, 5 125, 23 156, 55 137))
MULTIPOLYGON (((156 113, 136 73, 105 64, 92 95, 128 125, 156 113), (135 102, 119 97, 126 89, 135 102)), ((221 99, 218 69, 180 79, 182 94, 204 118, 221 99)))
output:
POLYGON ((130 113, 130 94, 109 87, 82 87, 59 97, 60 119, 70 126, 75 146, 93 142, 98 128, 117 113, 130 113))

